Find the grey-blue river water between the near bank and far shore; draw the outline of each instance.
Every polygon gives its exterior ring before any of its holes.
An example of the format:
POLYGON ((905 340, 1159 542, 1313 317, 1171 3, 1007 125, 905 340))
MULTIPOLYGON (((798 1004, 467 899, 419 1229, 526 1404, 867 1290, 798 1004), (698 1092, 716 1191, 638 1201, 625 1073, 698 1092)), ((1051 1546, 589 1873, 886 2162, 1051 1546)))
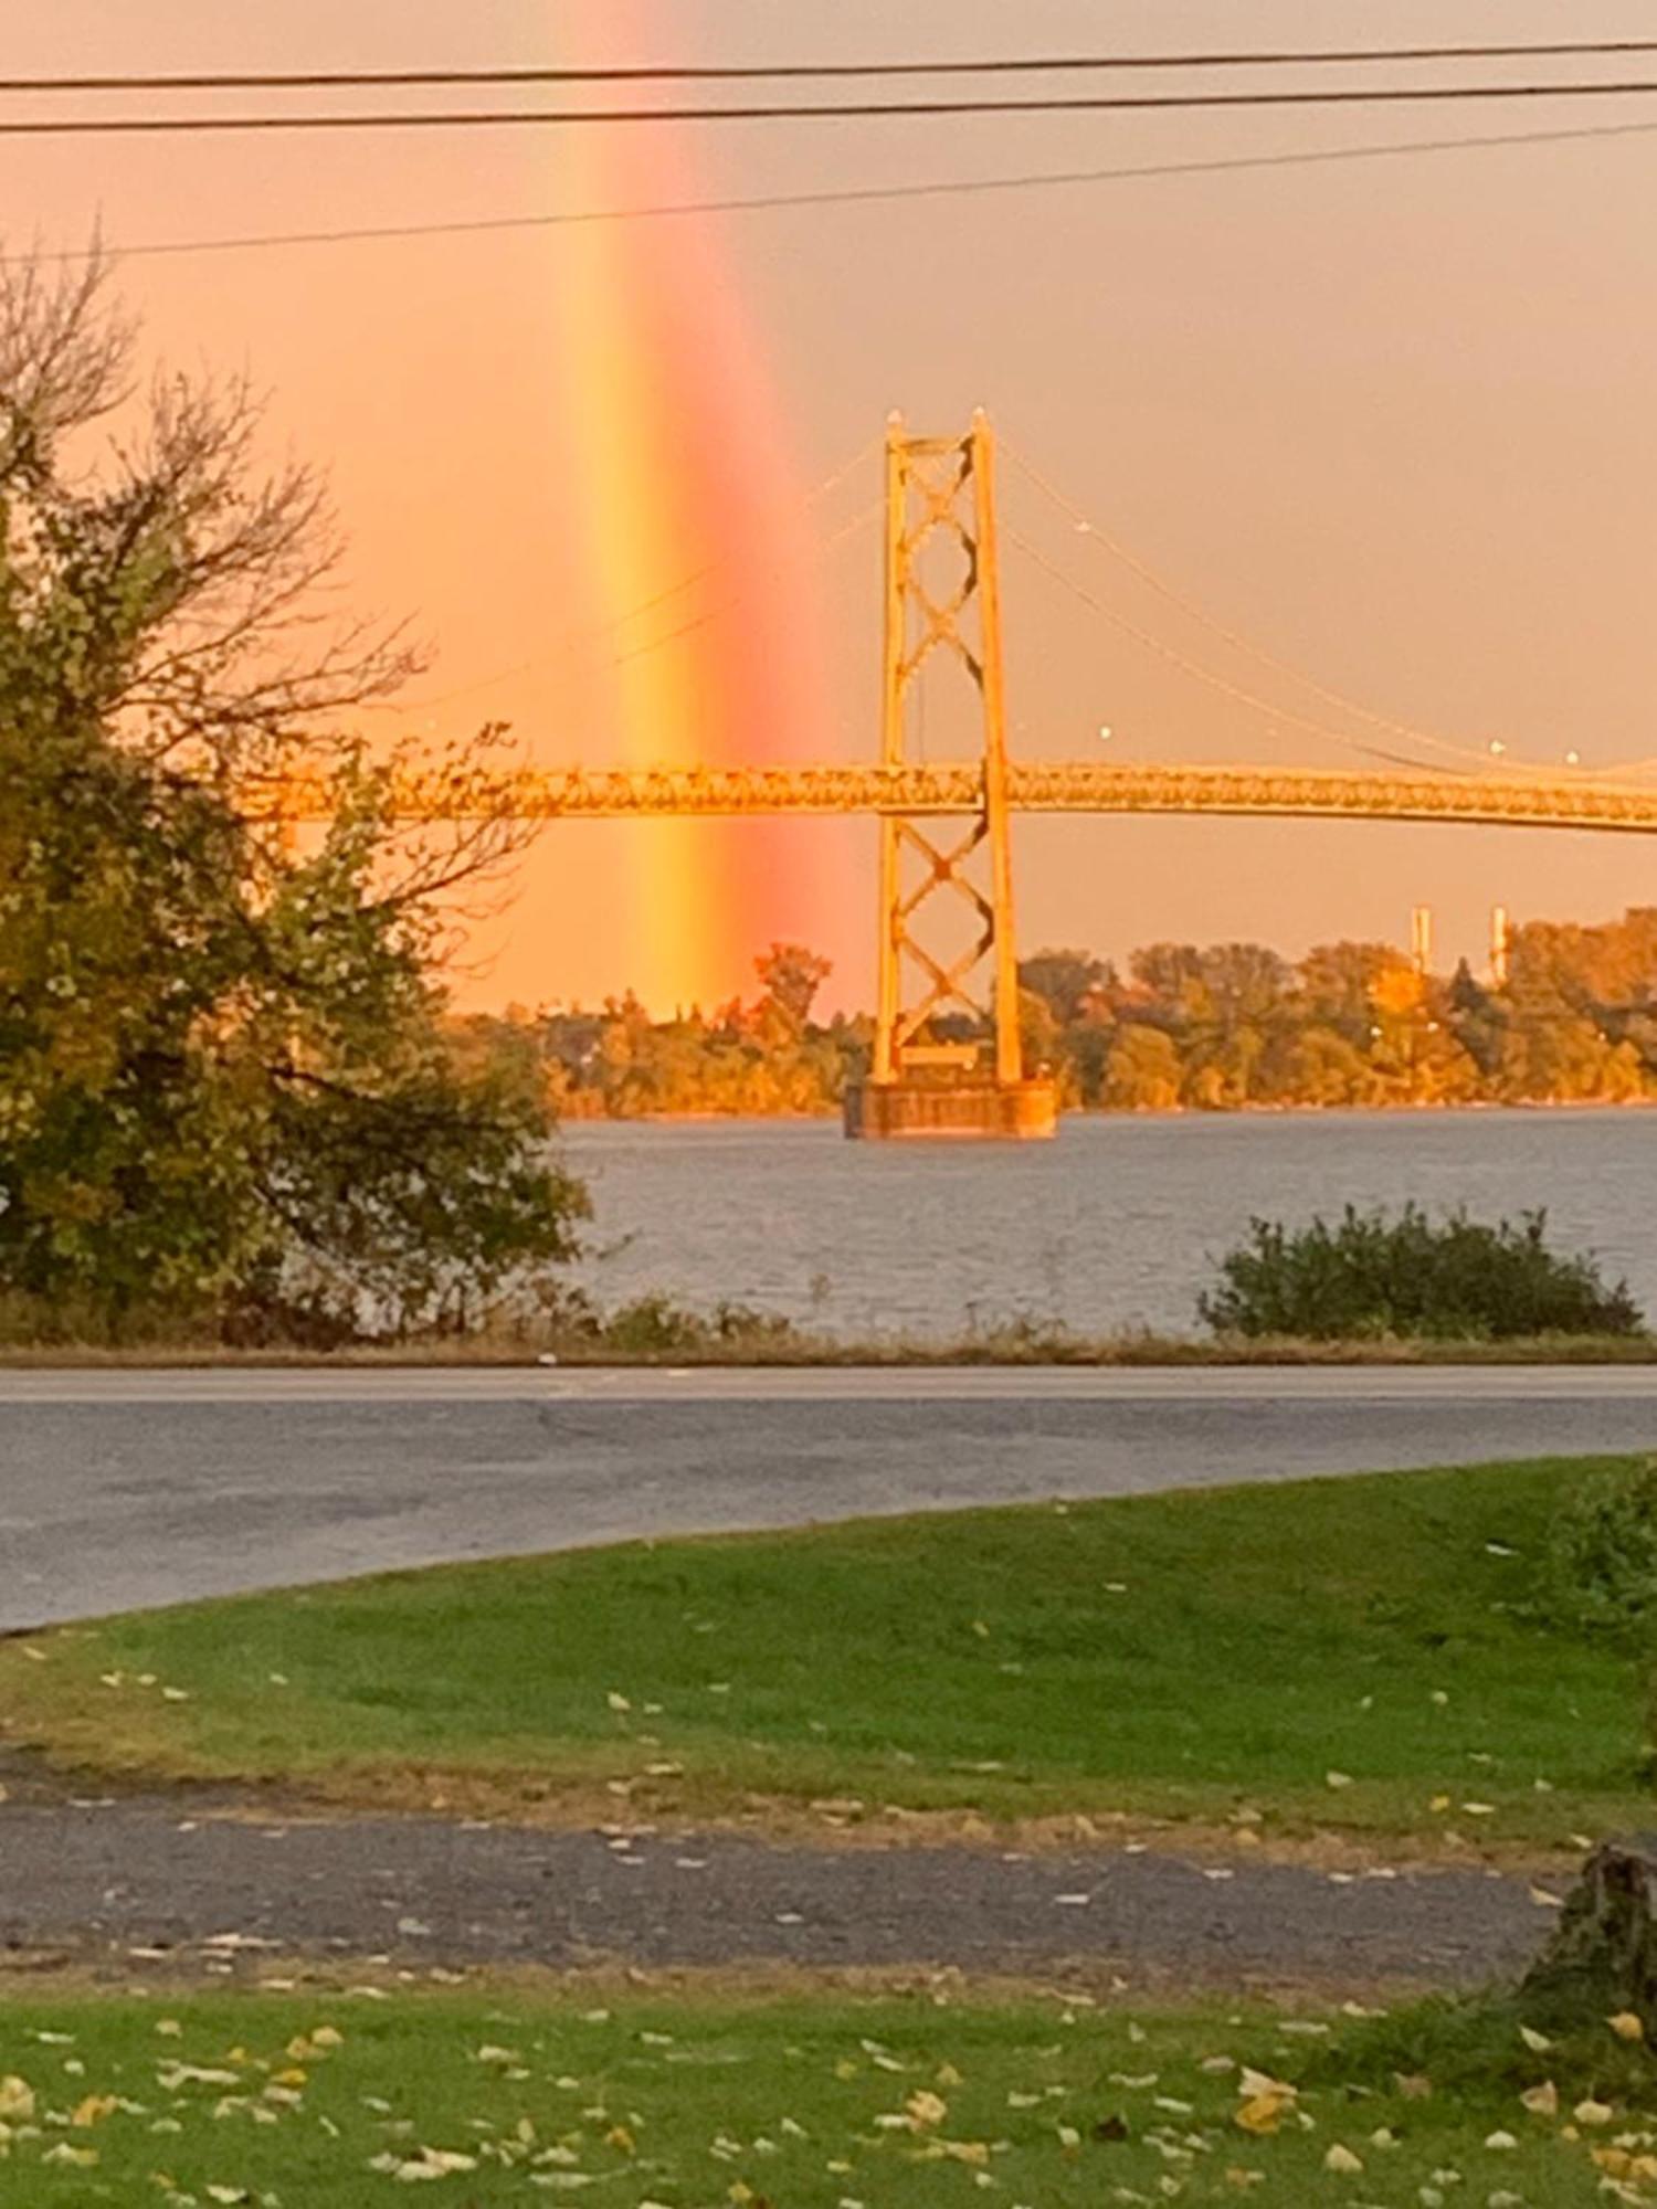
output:
POLYGON ((570 1127, 605 1301, 731 1297, 840 1334, 1058 1317, 1191 1332, 1253 1213, 1538 1204, 1657 1314, 1657 1111, 1065 1120, 1052 1144, 857 1144, 828 1122, 570 1127))

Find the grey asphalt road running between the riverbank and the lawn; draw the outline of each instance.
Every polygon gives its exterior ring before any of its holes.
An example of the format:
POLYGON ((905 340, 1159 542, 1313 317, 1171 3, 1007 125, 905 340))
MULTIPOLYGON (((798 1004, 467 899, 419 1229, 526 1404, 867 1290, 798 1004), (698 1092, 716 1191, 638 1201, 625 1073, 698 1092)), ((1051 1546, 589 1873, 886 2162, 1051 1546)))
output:
POLYGON ((0 1630, 634 1535, 1657 1447, 1657 1367, 0 1372, 0 1630))

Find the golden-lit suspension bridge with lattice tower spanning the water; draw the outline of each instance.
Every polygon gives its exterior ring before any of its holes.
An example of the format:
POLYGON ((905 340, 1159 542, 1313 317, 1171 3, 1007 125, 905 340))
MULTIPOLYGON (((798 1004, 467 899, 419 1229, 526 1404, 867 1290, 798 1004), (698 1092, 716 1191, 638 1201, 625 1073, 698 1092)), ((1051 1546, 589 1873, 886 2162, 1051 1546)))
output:
MULTIPOLYGON (((1052 486, 1043 488, 1052 493, 1052 486)), ((1060 504, 1067 501, 1060 497, 1060 504)), ((1478 771, 1379 771, 1014 760, 1007 751, 996 442, 988 418, 974 415, 965 435, 952 437, 912 437, 893 418, 886 435, 884 517, 879 760, 789 767, 526 767, 482 771, 460 784, 453 778, 411 773, 398 784, 398 811, 409 820, 453 820, 466 813, 510 813, 535 822, 873 815, 879 824, 879 1010, 870 1078, 846 1104, 851 1135, 1054 1133, 1054 1087, 1041 1069, 1023 1065, 1019 1034, 1010 835, 1014 813, 1217 813, 1657 835, 1657 786, 1591 775, 1502 773, 1489 771, 1485 762, 1478 762, 1478 771), (915 705, 919 680, 935 658, 965 672, 977 729, 970 758, 917 755, 915 705)), ((1089 524, 1078 519, 1078 526, 1089 524)), ((1076 596, 1125 627, 1032 546, 1025 550, 1076 596)), ((1167 594, 1178 601, 1178 594, 1167 594)), ((1153 636, 1131 634, 1171 656, 1153 636)), ((1224 630, 1220 634, 1228 643, 1246 643, 1224 630)), ((1279 674, 1306 680, 1266 654, 1255 656, 1279 674)), ((1262 705, 1222 678, 1204 680, 1215 680, 1233 698, 1262 705)), ((1315 683, 1310 689, 1334 700, 1334 694, 1315 683)), ((1277 718, 1330 733, 1295 714, 1277 718)), ((1363 711, 1363 718, 1394 736, 1436 742, 1385 716, 1363 711)), ((283 786, 276 806, 287 822, 325 820, 331 795, 320 778, 298 780, 283 786)))

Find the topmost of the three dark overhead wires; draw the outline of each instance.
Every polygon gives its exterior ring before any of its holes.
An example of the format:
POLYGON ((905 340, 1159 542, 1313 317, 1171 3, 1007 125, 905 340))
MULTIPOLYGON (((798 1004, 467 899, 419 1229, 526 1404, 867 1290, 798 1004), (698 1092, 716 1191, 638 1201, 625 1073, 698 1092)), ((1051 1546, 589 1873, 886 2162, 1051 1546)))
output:
POLYGON ((1317 68, 1387 62, 1538 62, 1657 53, 1657 38, 1562 38, 1538 44, 1292 46, 1220 53, 1043 53, 899 62, 672 62, 577 68, 283 68, 159 71, 104 77, 0 77, 0 93, 316 93, 488 84, 753 84, 846 77, 1083 75, 1133 68, 1317 68))

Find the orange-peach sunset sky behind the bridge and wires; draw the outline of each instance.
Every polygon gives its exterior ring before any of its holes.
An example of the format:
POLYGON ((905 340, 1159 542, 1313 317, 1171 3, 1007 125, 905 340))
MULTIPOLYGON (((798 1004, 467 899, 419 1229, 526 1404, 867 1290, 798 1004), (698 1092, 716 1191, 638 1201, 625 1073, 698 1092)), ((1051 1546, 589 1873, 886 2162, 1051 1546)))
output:
MULTIPOLYGON (((574 49, 981 53, 1014 38, 992 0, 842 0, 822 20, 775 0, 53 0, 13 13, 15 73, 486 64, 574 49)), ((1030 51, 1374 29, 1370 11, 1332 0, 1016 11, 1030 51)), ((1648 29, 1639 0, 1401 0, 1385 20, 1401 42, 1648 29)), ((1657 121, 1657 104, 1635 113, 1657 121)), ((1558 110, 1626 115, 1611 102, 1558 110)), ((13 241, 77 241, 99 212, 110 239, 155 241, 1535 119, 745 126, 627 148, 539 133, 9 141, 0 203, 13 241)), ((415 727, 508 718, 541 758, 605 762, 641 758, 654 718, 663 751, 705 729, 747 755, 775 716, 787 729, 764 749, 778 755, 868 755, 879 539, 868 526, 833 548, 822 539, 875 499, 877 475, 866 464, 809 521, 798 499, 875 440, 893 404, 919 426, 952 426, 983 402, 1085 510, 1279 656, 1474 744, 1498 736, 1535 760, 1577 747, 1613 767, 1657 751, 1655 181, 1657 133, 630 232, 144 258, 126 285, 161 351, 247 364, 274 393, 278 433, 331 466, 356 594, 413 612, 440 647, 415 727), (605 482, 616 504, 599 499, 605 482), (685 623, 658 612, 616 632, 630 579, 650 596, 703 552, 720 583, 676 601, 696 627, 636 649, 685 623), (698 709, 685 714, 689 698, 698 709)), ((1010 519, 1131 621, 1215 652, 1016 484, 1010 519)), ((1114 744, 1144 758, 1352 764, 1184 680, 1016 554, 1007 619, 1027 753, 1089 751, 1109 722, 1114 744)), ((1429 901, 1454 952, 1478 950, 1494 899, 1520 917, 1593 917, 1653 897, 1642 844, 1496 831, 1027 822, 1019 857, 1027 948, 1250 934, 1295 950, 1399 937, 1407 908, 1429 901)), ((840 963, 844 994, 866 996, 868 824, 552 831, 475 945, 466 992, 592 998, 634 981, 658 1003, 729 994, 747 979, 745 937, 758 950, 773 934, 809 934, 840 963)))

